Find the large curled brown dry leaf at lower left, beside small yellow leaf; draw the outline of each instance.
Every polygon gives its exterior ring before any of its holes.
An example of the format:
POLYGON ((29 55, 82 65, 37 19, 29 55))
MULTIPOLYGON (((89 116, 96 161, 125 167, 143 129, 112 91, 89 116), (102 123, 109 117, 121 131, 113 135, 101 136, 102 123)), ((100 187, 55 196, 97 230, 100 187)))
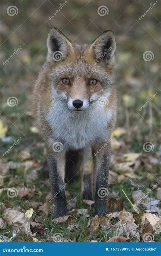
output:
POLYGON ((9 227, 12 227, 16 230, 18 230, 21 225, 27 221, 24 213, 11 208, 7 208, 4 210, 3 219, 9 227))

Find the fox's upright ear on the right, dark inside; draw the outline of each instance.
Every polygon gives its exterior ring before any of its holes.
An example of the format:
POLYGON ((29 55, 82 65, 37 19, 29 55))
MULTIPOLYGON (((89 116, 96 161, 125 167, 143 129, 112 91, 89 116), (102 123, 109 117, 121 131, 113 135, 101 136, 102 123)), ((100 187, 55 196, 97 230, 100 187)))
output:
POLYGON ((92 43, 89 51, 94 55, 95 64, 111 68, 114 65, 115 49, 114 33, 112 30, 106 30, 92 43))

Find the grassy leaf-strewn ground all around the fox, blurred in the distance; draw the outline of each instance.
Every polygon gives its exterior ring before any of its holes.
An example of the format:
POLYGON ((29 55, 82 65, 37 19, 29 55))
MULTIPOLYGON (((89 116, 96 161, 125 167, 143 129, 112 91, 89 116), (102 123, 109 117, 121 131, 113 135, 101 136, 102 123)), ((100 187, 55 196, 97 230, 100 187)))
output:
POLYGON ((123 2, 77 0, 61 9, 58 1, 1 3, 1 241, 147 242, 149 233, 150 241, 161 241, 159 4, 123 2), (17 14, 8 14, 11 5, 17 14), (99 15, 102 5, 107 15, 99 15), (106 217, 95 217, 93 202, 83 202, 78 180, 66 186, 71 216, 54 220, 46 151, 31 104, 52 26, 77 43, 91 43, 106 29, 115 32, 118 112, 106 217))

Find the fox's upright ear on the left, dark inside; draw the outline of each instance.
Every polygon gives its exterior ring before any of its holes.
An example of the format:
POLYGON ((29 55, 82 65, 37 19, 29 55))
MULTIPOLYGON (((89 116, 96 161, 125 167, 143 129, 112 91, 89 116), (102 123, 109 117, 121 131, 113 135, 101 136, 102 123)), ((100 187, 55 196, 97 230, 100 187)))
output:
POLYGON ((71 42, 57 28, 49 30, 47 46, 47 61, 49 62, 65 59, 73 49, 71 42))

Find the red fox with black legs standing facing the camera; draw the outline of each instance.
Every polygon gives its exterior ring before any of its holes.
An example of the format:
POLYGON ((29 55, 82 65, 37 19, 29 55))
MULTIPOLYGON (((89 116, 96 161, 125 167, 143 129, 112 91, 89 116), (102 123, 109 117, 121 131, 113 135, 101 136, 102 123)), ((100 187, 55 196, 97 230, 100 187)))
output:
POLYGON ((55 216, 68 214, 65 177, 72 170, 81 173, 83 199, 93 200, 94 179, 95 214, 107 214, 110 136, 117 108, 114 33, 106 30, 91 45, 78 45, 51 28, 47 46, 33 112, 46 143, 55 216))

